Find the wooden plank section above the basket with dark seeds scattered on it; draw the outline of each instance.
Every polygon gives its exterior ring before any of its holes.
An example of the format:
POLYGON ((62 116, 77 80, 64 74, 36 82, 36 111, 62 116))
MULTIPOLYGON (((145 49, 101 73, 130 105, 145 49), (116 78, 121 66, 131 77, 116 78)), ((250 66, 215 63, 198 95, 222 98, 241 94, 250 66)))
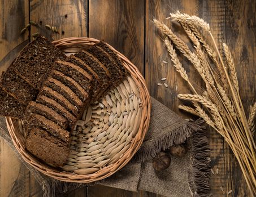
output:
POLYGON ((31 20, 38 24, 32 26, 31 34, 40 32, 50 40, 87 36, 87 0, 32 0, 30 9, 31 20), (56 26, 59 33, 53 33, 45 25, 56 26))

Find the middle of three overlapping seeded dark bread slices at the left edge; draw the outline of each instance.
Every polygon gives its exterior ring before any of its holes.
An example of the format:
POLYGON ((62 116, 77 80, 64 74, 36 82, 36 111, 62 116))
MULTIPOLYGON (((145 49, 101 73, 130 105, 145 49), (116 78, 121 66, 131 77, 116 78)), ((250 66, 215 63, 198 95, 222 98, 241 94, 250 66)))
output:
POLYGON ((39 92, 15 73, 13 64, 2 75, 0 87, 24 105, 28 105, 29 101, 36 100, 39 92))

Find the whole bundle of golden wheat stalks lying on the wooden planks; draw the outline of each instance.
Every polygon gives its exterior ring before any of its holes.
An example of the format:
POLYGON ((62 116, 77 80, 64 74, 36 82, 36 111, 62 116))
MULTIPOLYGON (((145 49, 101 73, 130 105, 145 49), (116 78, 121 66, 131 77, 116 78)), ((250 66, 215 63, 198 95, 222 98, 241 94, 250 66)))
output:
POLYGON ((251 195, 256 195, 256 145, 253 139, 256 103, 251 106, 249 117, 246 119, 238 92, 238 79, 232 53, 227 44, 223 43, 223 51, 227 60, 225 61, 227 65, 225 65, 211 34, 210 25, 197 16, 181 14, 179 11, 170 15, 172 20, 181 23, 196 48, 196 53, 191 52, 188 46, 168 26, 154 20, 154 24, 170 39, 166 39, 164 42, 173 66, 181 74, 181 77, 189 83, 190 88, 194 92, 194 94, 180 94, 177 96, 182 100, 191 101, 194 107, 180 105, 179 108, 205 119, 207 124, 224 137, 240 164, 251 195), (206 33, 210 34, 214 48, 211 48, 206 42, 199 28, 206 30, 206 33), (189 77, 180 63, 172 43, 175 44, 177 50, 192 62, 201 75, 206 84, 206 91, 203 91, 203 96, 198 95, 192 83, 190 83, 189 77), (209 62, 208 57, 213 61, 209 62), (212 64, 215 67, 212 67, 212 64), (229 73, 226 68, 229 69, 229 73), (207 113, 204 110, 205 108, 208 110, 207 113))

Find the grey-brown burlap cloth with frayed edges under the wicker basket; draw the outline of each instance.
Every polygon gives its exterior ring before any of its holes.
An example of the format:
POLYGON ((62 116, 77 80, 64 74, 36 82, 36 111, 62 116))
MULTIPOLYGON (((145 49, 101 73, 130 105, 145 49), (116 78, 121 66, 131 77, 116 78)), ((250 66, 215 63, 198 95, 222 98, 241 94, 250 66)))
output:
MULTIPOLYGON (((151 98, 152 110, 149 130, 145 140, 131 162, 105 180, 89 184, 101 184, 119 189, 145 190, 164 196, 209 196, 210 157, 207 132, 202 120, 189 122, 151 98), (170 167, 155 172, 152 158, 160 150, 188 140, 189 152, 183 158, 171 158, 170 167)), ((88 186, 67 183, 47 177, 24 162, 12 144, 5 117, 0 118, 0 135, 15 151, 21 162, 31 171, 44 190, 44 196, 55 196, 77 187, 88 186)))

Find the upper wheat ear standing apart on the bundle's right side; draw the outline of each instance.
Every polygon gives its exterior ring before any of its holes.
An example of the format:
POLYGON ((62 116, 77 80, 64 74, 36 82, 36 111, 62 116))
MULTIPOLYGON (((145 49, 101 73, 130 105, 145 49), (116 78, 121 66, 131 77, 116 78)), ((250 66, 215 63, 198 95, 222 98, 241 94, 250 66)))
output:
POLYGON ((233 86, 236 88, 236 91, 238 93, 239 92, 239 85, 238 85, 235 62, 233 60, 231 51, 229 50, 229 47, 225 43, 223 43, 223 50, 224 50, 225 57, 226 57, 227 62, 228 62, 228 68, 229 68, 230 77, 231 77, 233 86))

